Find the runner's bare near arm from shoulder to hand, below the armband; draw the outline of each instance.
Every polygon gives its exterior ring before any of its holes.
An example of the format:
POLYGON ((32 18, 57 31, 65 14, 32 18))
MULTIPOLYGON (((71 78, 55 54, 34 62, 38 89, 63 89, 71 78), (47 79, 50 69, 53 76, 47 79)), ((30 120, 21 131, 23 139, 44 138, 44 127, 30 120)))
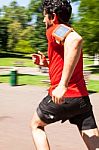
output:
POLYGON ((59 85, 52 92, 52 100, 61 104, 68 88, 74 69, 80 58, 82 48, 82 37, 76 32, 71 32, 64 42, 64 66, 59 85))

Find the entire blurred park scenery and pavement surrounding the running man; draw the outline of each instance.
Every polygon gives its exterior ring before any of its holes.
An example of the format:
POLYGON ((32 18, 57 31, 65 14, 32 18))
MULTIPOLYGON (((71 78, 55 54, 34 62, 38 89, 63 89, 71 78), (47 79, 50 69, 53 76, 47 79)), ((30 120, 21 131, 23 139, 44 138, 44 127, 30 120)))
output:
MULTIPOLYGON (((40 6, 40 0, 0 0, 0 150, 35 149, 30 120, 49 86, 48 70, 39 70, 31 57, 38 50, 47 55, 40 6)), ((84 73, 99 126, 99 2, 72 0, 72 6, 71 24, 83 37, 84 73)), ((87 150, 68 121, 49 125, 47 134, 53 150, 87 150)))

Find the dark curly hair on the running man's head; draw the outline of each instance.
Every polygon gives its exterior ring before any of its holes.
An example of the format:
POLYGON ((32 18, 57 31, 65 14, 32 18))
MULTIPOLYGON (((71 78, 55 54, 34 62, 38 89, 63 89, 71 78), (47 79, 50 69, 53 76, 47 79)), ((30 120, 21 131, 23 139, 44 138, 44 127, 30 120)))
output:
POLYGON ((53 18, 53 13, 58 17, 59 23, 68 23, 72 13, 70 0, 43 0, 43 9, 53 18))

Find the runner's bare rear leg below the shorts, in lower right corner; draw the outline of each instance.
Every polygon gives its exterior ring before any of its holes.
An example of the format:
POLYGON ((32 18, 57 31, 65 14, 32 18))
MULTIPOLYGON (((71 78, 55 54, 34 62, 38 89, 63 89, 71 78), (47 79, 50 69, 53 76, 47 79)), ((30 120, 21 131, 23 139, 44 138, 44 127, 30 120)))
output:
POLYGON ((97 128, 82 130, 80 134, 88 147, 88 150, 99 150, 99 131, 97 128))

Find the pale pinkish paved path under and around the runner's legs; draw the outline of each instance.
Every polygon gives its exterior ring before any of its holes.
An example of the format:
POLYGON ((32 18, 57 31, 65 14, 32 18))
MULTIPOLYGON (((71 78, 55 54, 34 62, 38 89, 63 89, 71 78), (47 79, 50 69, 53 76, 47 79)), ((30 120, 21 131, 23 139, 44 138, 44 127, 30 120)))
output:
MULTIPOLYGON (((47 93, 44 87, 0 83, 0 150, 35 150, 29 127, 33 111, 47 93)), ((99 93, 90 95, 99 125, 99 93)), ((76 126, 60 122, 46 127, 51 150, 87 150, 76 126)))

